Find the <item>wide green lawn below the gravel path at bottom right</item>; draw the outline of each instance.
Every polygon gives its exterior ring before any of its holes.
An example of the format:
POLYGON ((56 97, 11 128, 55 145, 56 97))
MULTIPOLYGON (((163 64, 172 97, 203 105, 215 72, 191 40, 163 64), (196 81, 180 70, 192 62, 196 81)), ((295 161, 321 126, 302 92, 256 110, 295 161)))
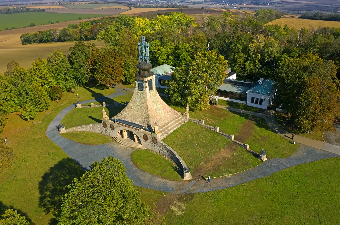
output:
MULTIPOLYGON (((340 158, 306 163, 235 187, 176 195, 137 188, 174 224, 338 224, 340 158), (176 210, 176 208, 182 209, 176 210), (177 213, 177 214, 175 214, 177 213)), ((214 179, 212 179, 214 182, 214 179)))

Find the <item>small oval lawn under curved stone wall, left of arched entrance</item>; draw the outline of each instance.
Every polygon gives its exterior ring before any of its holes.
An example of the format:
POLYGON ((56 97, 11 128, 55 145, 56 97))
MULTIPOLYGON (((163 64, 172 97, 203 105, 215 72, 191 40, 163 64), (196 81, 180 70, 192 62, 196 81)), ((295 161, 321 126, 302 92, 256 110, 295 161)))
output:
POLYGON ((107 135, 92 132, 74 132, 61 134, 61 136, 86 145, 106 144, 112 141, 112 138, 107 135))

